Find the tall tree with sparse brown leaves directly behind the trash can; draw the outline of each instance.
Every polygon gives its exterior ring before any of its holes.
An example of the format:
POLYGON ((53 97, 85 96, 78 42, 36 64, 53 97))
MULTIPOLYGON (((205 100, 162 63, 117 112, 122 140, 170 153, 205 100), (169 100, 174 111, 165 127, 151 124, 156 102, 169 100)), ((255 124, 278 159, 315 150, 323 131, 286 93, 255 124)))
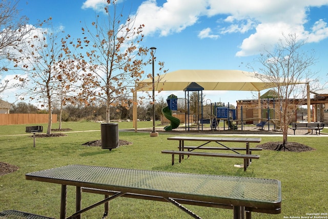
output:
POLYGON ((88 103, 95 99, 106 103, 107 123, 111 106, 128 107, 131 99, 116 100, 134 92, 135 83, 144 75, 142 67, 150 63, 144 60, 149 49, 140 45, 144 25, 135 26, 135 19, 119 13, 117 5, 117 0, 107 1, 105 13, 96 16, 92 29, 83 28, 88 71, 80 95, 89 98, 88 103))

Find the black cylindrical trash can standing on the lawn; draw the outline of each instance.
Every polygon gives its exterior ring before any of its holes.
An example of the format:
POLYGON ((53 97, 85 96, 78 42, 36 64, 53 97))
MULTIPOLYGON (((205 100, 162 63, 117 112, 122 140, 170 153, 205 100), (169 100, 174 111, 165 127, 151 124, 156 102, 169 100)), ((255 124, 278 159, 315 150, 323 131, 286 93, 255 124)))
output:
POLYGON ((112 150, 119 146, 118 124, 103 123, 101 124, 101 148, 112 150))

